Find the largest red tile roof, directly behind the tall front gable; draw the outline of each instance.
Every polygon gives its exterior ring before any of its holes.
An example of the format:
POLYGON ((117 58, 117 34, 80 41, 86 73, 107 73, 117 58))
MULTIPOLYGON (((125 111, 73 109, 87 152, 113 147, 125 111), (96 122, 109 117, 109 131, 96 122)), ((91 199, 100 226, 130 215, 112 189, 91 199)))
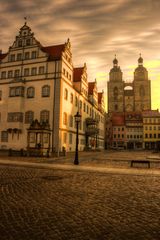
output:
POLYGON ((46 52, 49 54, 49 60, 60 59, 64 49, 65 49, 65 44, 41 48, 43 52, 46 52))

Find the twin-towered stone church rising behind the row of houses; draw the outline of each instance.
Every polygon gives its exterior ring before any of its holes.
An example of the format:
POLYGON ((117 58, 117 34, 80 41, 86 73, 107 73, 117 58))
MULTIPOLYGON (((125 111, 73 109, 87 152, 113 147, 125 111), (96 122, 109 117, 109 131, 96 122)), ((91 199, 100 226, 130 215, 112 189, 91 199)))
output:
POLYGON ((115 57, 109 73, 108 113, 151 110, 151 85, 141 55, 134 71, 133 82, 124 82, 122 75, 115 57))

